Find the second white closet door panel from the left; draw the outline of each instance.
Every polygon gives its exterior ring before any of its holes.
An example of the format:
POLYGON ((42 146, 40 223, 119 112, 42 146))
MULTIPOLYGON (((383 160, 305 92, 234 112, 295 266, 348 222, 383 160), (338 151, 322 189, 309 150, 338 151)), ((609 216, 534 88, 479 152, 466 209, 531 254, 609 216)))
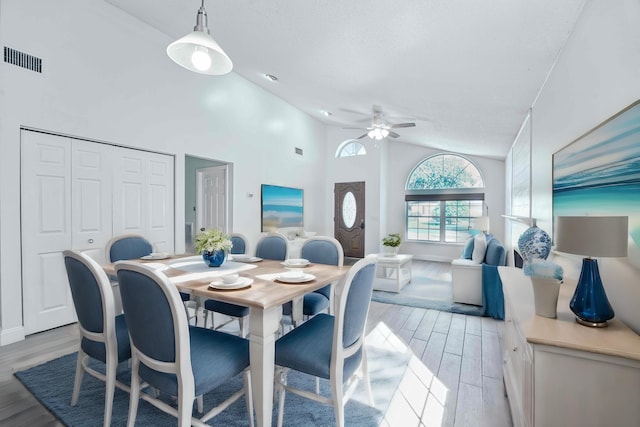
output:
POLYGON ((112 153, 112 146, 73 140, 72 247, 98 264, 107 262, 104 250, 112 235, 112 153))

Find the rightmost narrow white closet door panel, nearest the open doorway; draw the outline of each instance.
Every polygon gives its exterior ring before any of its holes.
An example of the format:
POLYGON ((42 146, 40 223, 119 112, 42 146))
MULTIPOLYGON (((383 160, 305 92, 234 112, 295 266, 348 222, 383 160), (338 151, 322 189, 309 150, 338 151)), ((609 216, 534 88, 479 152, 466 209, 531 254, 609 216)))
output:
POLYGON ((156 251, 174 251, 173 156, 147 154, 147 239, 156 251))

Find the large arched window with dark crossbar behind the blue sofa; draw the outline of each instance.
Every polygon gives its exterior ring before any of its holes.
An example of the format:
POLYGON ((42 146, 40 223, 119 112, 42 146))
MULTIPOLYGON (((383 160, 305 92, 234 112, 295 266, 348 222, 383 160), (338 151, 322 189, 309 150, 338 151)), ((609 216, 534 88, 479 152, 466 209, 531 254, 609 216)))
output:
POLYGON ((436 154, 409 174, 405 201, 407 240, 462 243, 483 215, 484 180, 464 157, 436 154))

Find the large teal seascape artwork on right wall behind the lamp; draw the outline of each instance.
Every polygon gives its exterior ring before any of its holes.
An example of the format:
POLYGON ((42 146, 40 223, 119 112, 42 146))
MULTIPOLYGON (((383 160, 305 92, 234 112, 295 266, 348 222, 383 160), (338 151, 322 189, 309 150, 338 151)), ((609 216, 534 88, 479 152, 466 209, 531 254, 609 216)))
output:
POLYGON ((640 266, 640 101, 553 155, 553 215, 626 215, 640 266))

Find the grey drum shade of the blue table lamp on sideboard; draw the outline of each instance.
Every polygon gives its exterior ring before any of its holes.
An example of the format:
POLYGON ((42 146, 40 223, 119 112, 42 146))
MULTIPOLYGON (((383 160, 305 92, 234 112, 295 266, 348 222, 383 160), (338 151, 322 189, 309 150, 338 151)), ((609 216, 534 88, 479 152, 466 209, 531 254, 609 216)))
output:
POLYGON ((626 257, 628 234, 626 216, 559 216, 555 249, 587 257, 626 257))

